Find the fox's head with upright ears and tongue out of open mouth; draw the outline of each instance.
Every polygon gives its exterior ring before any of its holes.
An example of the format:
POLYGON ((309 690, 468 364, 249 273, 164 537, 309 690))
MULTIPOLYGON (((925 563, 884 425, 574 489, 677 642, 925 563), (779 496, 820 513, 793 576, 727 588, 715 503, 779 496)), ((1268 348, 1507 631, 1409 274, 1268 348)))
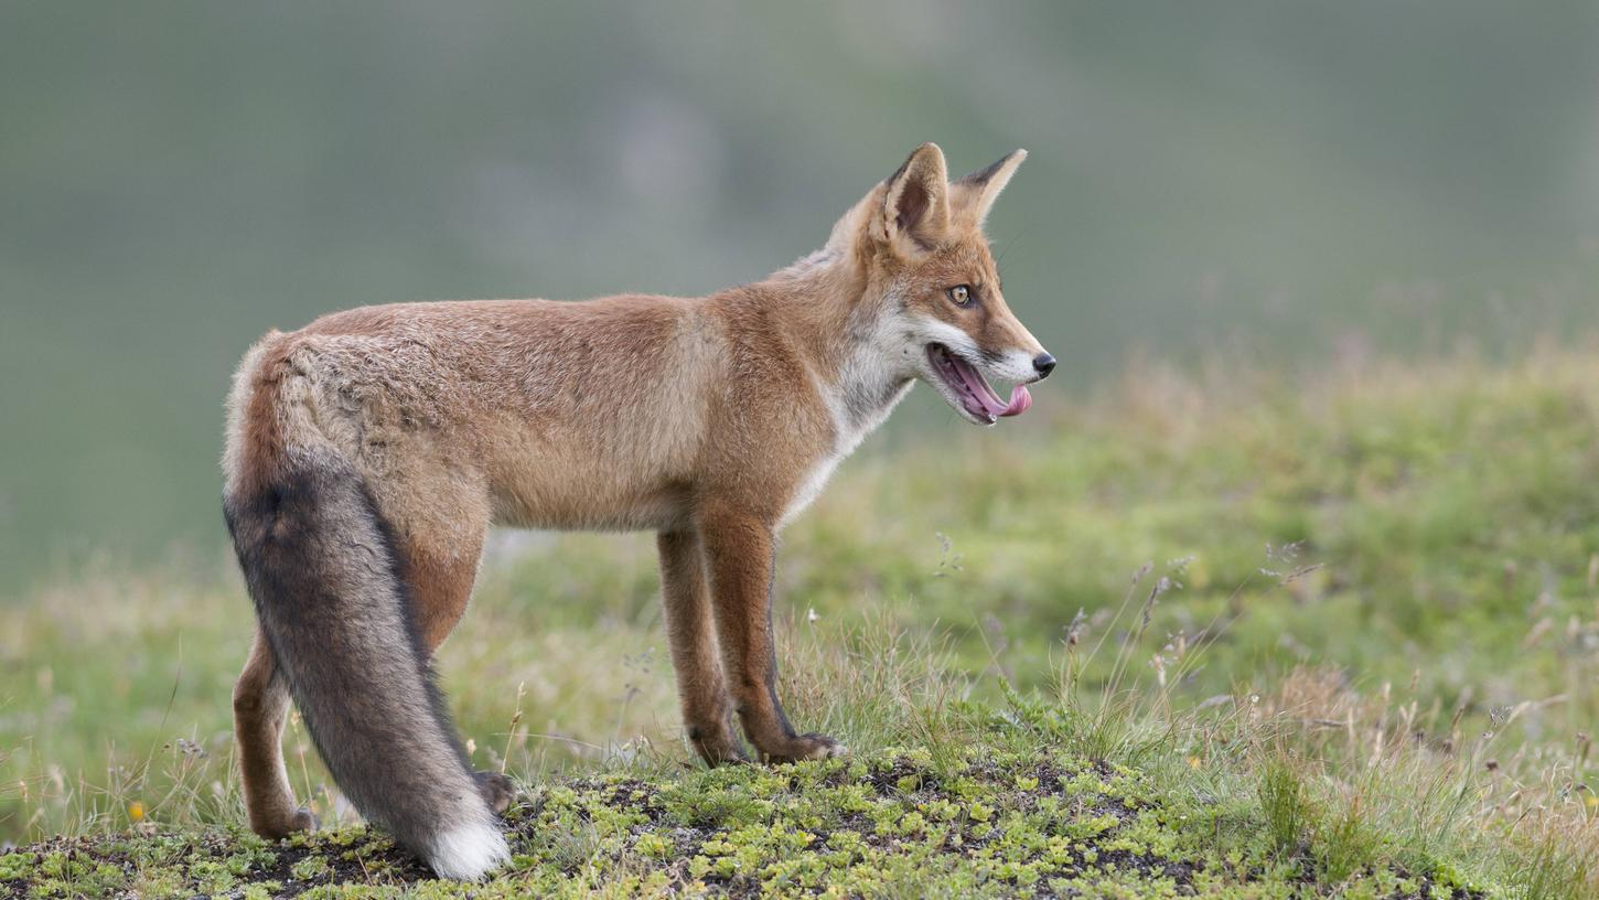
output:
MULTIPOLYGON (((999 289, 983 219, 1027 150, 963 179, 948 179, 943 152, 923 144, 839 221, 876 299, 878 358, 900 377, 932 385, 967 420, 993 425, 1031 406, 1027 384, 1055 368, 999 289), (1009 400, 988 379, 1011 382, 1009 400)), ((831 241, 830 241, 831 243, 831 241)))

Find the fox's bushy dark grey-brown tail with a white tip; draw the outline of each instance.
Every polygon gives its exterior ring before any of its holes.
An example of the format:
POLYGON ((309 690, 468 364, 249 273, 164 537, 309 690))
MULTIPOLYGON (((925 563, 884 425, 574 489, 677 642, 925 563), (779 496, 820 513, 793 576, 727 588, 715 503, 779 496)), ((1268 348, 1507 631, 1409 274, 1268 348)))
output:
POLYGON ((443 878, 510 858, 430 678, 398 558, 361 476, 273 448, 225 500, 273 662, 344 794, 443 878))

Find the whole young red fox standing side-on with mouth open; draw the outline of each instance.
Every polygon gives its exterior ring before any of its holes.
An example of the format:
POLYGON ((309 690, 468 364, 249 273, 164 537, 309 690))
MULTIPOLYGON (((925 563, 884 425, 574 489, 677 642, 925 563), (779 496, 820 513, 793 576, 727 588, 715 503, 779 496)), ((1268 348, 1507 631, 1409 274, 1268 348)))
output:
POLYGON ((777 697, 777 534, 916 382, 975 425, 1031 406, 1055 358, 983 233, 1025 157, 950 181, 923 144, 822 249, 704 297, 374 305, 259 339, 222 456, 257 625, 233 687, 251 830, 317 826, 283 763, 293 700, 344 796, 440 878, 510 858, 515 783, 472 769, 432 671, 491 526, 657 534, 705 764, 846 753, 777 697))

